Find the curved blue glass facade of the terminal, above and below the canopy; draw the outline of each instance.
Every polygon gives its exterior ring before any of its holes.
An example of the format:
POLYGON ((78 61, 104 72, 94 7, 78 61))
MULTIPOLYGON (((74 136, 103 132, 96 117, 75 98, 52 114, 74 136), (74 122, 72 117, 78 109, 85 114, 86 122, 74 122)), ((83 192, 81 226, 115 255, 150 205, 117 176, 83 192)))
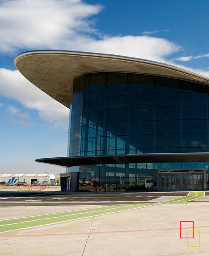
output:
MULTIPOLYGON (((209 152, 208 86, 131 73, 74 79, 69 156, 209 152)), ((208 163, 76 166, 79 190, 156 190, 156 170, 208 168, 208 163)), ((75 170, 75 168, 74 168, 75 170)))

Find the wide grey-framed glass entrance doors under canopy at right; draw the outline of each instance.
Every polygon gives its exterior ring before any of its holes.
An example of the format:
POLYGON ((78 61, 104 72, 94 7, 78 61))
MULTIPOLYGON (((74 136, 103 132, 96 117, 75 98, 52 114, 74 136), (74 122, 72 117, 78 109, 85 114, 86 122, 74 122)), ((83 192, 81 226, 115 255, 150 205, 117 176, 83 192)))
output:
POLYGON ((205 169, 157 170, 157 191, 206 190, 206 186, 205 169))

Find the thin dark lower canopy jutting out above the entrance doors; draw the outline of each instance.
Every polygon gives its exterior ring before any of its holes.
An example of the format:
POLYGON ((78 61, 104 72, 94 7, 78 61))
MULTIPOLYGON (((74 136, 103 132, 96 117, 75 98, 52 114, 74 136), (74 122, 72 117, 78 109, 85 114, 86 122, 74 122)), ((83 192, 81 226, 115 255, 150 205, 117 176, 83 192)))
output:
POLYGON ((61 167, 79 165, 104 165, 122 163, 179 163, 179 162, 209 162, 209 153, 159 153, 159 154, 128 154, 99 155, 78 157, 54 157, 36 159, 36 162, 57 165, 61 167))

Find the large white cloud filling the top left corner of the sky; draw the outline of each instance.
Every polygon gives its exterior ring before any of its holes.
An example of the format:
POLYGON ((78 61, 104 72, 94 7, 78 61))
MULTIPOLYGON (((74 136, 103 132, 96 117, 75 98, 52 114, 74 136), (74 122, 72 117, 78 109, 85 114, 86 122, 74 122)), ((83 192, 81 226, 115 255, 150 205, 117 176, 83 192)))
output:
POLYGON ((75 35, 96 33, 88 17, 101 8, 81 0, 0 1, 0 51, 59 48, 75 35))

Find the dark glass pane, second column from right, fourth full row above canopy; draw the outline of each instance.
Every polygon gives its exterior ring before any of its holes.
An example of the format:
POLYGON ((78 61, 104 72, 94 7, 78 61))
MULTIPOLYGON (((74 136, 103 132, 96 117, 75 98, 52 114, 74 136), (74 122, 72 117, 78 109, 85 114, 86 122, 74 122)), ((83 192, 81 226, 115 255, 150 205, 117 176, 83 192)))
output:
POLYGON ((155 106, 180 106, 180 93, 154 94, 155 106))

